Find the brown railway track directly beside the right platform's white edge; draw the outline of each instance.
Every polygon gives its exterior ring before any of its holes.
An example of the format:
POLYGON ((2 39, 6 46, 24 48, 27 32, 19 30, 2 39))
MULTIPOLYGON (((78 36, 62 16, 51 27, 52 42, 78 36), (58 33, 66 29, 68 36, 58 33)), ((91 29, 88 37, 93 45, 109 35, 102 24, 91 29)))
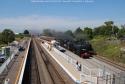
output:
POLYGON ((53 84, 65 84, 65 81, 63 80, 63 78, 60 76, 59 72, 57 71, 57 69, 54 67, 54 65, 52 64, 52 62, 49 60, 48 56, 46 55, 46 53, 43 52, 40 43, 38 41, 36 41, 38 50, 41 54, 41 57, 47 67, 47 70, 50 74, 50 77, 53 81, 53 84))

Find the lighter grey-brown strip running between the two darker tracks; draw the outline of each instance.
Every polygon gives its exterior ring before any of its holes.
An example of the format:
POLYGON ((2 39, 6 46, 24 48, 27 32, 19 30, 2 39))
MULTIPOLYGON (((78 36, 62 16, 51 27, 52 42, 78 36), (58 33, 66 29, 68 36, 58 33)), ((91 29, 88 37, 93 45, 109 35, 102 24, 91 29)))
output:
POLYGON ((32 40, 34 45, 34 51, 40 76, 40 84, 54 84, 53 80, 48 72, 47 66, 41 56, 41 53, 37 47, 35 39, 32 40))

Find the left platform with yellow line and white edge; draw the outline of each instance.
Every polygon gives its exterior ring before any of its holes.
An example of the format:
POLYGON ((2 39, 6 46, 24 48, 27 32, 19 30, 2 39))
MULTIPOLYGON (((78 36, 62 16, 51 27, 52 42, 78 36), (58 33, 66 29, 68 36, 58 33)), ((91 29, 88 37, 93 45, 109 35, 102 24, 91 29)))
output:
POLYGON ((20 52, 18 56, 15 56, 10 64, 6 67, 3 73, 7 73, 4 84, 21 84, 23 79, 23 73, 25 69, 26 59, 28 55, 30 40, 25 41, 25 51, 20 52))

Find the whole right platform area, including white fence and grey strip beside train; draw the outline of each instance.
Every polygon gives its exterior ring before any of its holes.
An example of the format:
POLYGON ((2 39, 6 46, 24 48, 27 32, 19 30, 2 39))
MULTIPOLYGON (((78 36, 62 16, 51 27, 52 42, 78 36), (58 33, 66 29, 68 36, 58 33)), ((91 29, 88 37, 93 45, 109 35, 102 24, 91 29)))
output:
POLYGON ((44 47, 51 57, 55 59, 65 72, 78 84, 110 84, 111 82, 117 81, 114 80, 114 76, 117 77, 119 73, 122 73, 121 70, 95 58, 83 59, 69 50, 60 52, 55 47, 49 50, 48 47, 50 45, 46 41, 45 43, 41 43, 41 46, 44 47), (77 62, 81 64, 80 71, 77 68, 77 62))

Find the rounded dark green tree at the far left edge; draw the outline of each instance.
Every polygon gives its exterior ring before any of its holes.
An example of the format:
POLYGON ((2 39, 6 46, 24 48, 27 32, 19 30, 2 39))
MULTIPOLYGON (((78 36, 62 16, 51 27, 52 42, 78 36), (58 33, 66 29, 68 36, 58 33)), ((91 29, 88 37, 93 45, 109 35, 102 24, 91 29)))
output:
POLYGON ((12 30, 10 29, 5 29, 3 30, 2 32, 2 41, 5 43, 5 44, 8 44, 12 41, 15 40, 15 34, 12 30))

